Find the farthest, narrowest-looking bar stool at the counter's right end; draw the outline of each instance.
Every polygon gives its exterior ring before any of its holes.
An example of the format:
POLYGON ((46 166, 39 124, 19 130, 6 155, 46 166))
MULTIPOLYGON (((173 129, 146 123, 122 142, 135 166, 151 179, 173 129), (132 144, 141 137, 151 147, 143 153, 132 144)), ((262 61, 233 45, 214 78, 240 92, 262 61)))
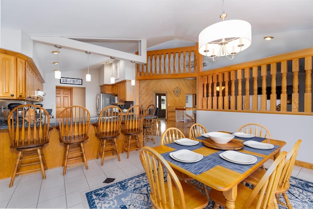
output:
POLYGON ((153 140, 153 143, 156 144, 155 138, 152 133, 152 124, 155 116, 156 108, 153 104, 149 105, 145 110, 145 118, 143 120, 143 146, 145 145, 145 141, 153 140), (151 135, 151 138, 149 138, 151 135))

